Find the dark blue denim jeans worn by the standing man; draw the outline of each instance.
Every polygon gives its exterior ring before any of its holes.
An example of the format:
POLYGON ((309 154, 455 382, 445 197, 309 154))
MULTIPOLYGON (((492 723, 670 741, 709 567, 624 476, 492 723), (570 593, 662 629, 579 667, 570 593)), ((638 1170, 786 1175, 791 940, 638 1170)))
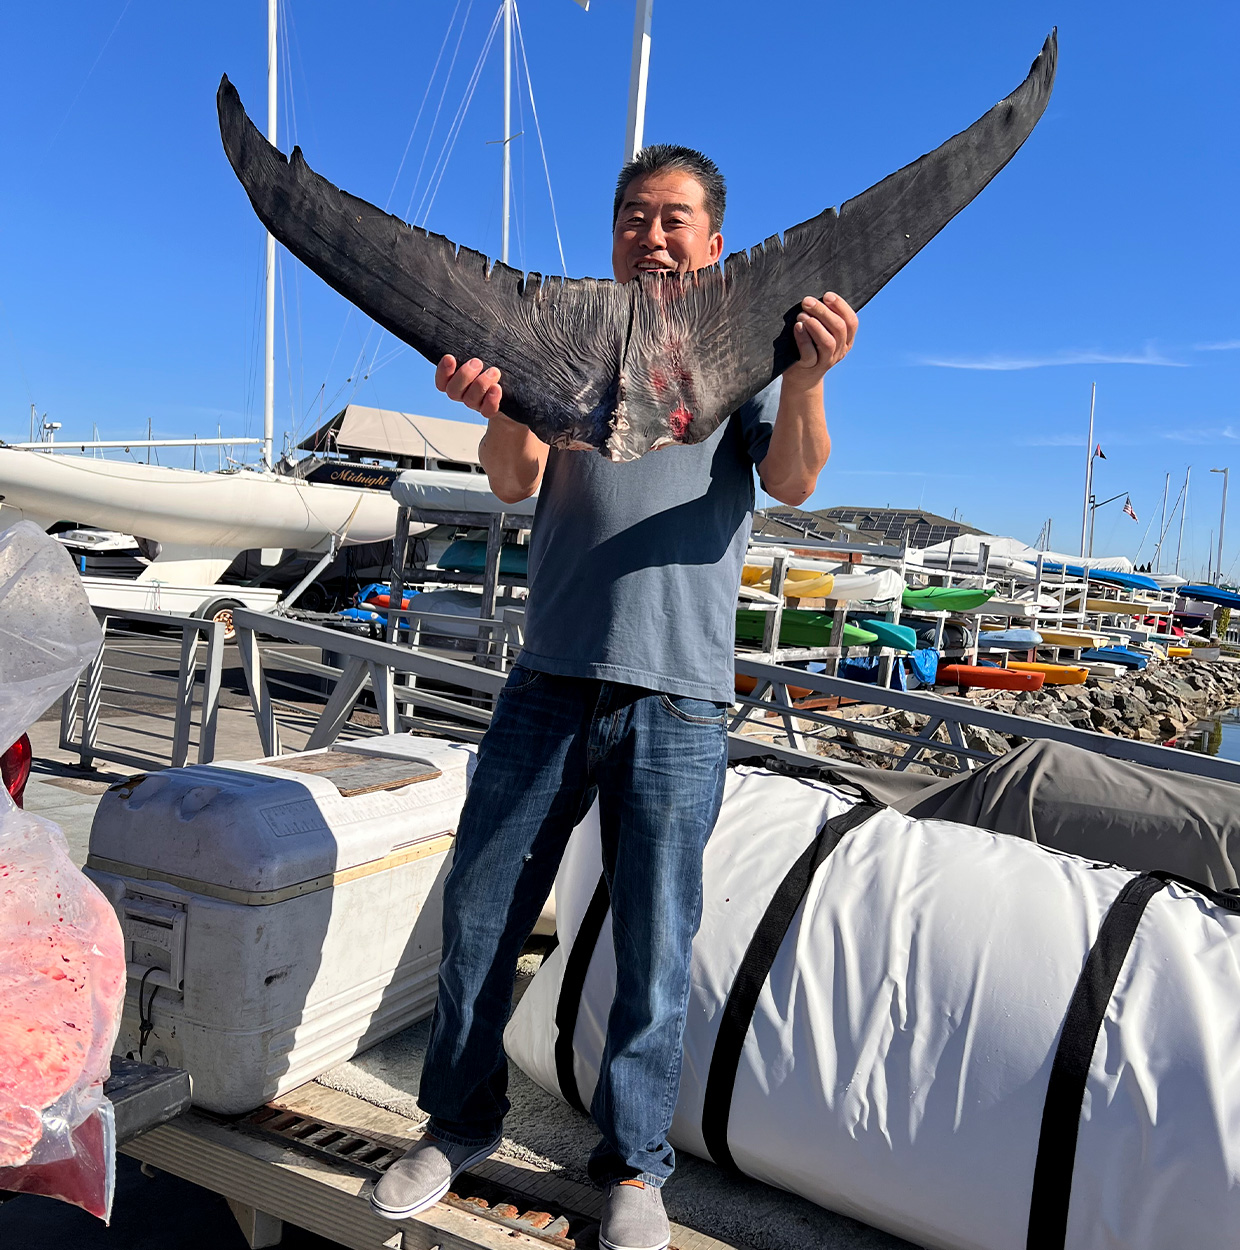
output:
POLYGON ((569 834, 598 795, 616 995, 590 1114, 600 1185, 661 1185, 680 1089, 701 856, 726 769, 726 709, 515 668, 500 694, 444 884, 444 961, 419 1102, 444 1141, 482 1145, 508 1112, 502 1032, 516 959, 569 834))

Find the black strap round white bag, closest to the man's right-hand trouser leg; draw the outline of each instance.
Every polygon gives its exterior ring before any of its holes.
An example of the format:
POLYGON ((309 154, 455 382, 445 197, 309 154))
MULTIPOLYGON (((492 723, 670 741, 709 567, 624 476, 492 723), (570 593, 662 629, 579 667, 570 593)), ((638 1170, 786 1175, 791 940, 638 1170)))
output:
POLYGON ((762 992, 779 949, 822 861, 849 830, 865 824, 881 810, 882 804, 859 802, 828 820, 814 841, 788 870, 754 930, 745 958, 736 970, 736 980, 732 981, 728 1001, 724 1004, 715 1050, 710 1058, 710 1071, 706 1075, 706 1091, 702 1096, 701 1135, 710 1158, 720 1168, 739 1170, 728 1148, 732 1088, 736 1084, 736 1070, 740 1066, 745 1038, 758 1006, 758 996, 762 992))

